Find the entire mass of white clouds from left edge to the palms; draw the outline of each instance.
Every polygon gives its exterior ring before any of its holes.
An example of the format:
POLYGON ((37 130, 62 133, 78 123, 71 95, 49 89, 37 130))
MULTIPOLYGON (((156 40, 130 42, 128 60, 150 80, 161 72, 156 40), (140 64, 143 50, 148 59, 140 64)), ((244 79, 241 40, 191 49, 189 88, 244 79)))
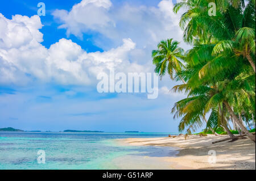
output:
POLYGON ((44 47, 39 31, 43 25, 37 15, 7 19, 0 14, 0 83, 90 85, 99 72, 108 72, 109 68, 124 73, 152 72, 150 54, 158 41, 168 37, 182 39, 177 26, 179 15, 172 12, 172 7, 169 0, 161 1, 158 7, 125 3, 118 8, 110 0, 83 0, 69 12, 54 11, 67 33, 81 36, 93 30, 113 41, 110 46, 105 39, 96 37, 98 45, 108 48, 90 53, 67 39, 60 39, 49 49, 44 47))

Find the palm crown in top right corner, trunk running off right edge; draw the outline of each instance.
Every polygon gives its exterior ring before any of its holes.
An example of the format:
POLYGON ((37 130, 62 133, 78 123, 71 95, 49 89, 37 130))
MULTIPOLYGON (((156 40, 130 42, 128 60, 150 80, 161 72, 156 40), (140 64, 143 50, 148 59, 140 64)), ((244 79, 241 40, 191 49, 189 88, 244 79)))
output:
POLYGON ((229 54, 242 56, 249 61, 255 73, 255 5, 248 3, 245 10, 242 7, 229 7, 225 15, 225 26, 229 28, 231 37, 221 37, 213 49, 214 54, 229 54))

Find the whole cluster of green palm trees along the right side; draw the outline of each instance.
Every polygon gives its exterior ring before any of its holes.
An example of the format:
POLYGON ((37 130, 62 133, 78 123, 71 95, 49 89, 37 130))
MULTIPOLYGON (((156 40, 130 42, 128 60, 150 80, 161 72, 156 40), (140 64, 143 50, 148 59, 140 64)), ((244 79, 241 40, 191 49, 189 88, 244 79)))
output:
POLYGON ((179 131, 192 134, 206 124, 205 132, 222 129, 232 138, 233 125, 255 142, 247 129, 255 128, 255 0, 183 0, 173 11, 181 9, 179 26, 192 48, 185 52, 167 39, 152 50, 155 72, 183 82, 172 88, 187 95, 171 110, 181 119, 179 131))

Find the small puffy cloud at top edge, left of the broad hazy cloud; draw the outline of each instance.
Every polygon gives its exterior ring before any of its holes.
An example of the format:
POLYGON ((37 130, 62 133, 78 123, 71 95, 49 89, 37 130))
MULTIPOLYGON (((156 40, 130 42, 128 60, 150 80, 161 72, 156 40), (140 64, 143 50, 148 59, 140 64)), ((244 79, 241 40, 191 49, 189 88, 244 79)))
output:
POLYGON ((109 0, 82 0, 70 12, 55 10, 53 16, 63 22, 60 28, 67 28, 68 35, 82 37, 83 31, 98 30, 112 22, 107 15, 110 6, 109 0))

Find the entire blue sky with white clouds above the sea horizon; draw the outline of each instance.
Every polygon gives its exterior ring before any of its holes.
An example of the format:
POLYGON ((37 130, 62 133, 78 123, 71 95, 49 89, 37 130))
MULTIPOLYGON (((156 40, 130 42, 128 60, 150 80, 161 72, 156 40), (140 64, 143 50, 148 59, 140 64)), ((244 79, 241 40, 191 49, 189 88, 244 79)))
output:
POLYGON ((99 93, 97 74, 153 73, 161 40, 183 43, 169 0, 9 0, 0 6, 0 128, 177 132, 185 98, 159 79, 159 95, 99 93), (39 2, 46 15, 38 16, 39 2))

